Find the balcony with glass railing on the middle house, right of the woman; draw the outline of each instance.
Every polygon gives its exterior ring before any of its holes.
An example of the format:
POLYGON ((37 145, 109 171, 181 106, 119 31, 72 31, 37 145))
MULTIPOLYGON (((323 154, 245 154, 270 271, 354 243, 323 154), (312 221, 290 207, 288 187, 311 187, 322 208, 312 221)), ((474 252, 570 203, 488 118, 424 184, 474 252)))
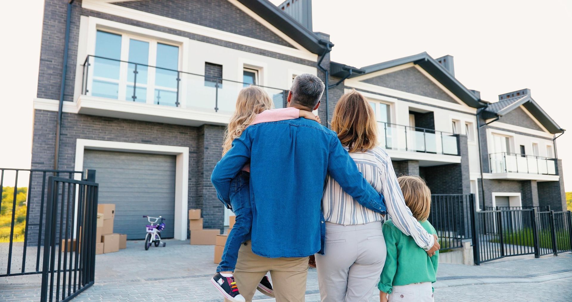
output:
POLYGON ((381 146, 392 159, 419 160, 420 166, 460 163, 458 135, 378 121, 381 146))

